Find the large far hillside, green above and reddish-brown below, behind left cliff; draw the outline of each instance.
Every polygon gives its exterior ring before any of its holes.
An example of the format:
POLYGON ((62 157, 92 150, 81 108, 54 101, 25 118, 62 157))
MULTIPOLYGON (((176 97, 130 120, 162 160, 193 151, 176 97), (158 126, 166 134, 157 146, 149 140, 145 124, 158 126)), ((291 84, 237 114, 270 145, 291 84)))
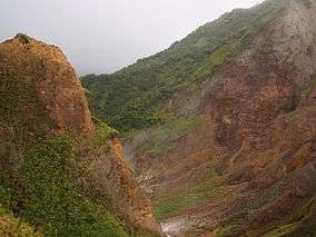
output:
POLYGON ((315 12, 268 0, 82 78, 170 236, 315 236, 315 12))

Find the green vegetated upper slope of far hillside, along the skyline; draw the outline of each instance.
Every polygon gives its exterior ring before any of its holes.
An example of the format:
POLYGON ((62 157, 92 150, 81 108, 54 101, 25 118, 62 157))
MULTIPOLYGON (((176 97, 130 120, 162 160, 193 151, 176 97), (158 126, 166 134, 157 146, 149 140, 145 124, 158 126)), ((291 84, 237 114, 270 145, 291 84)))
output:
POLYGON ((93 93, 92 111, 124 134, 168 122, 166 115, 178 117, 175 108, 186 91, 201 89, 201 82, 240 55, 279 10, 273 1, 259 10, 235 10, 113 75, 83 77, 83 87, 93 93))

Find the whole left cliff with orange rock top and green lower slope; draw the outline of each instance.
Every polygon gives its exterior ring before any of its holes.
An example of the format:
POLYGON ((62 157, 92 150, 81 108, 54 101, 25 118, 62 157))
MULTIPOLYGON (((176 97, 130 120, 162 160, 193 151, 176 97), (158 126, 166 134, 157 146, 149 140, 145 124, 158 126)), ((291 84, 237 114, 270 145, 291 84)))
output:
MULTIPOLYGON (((45 235, 160 235, 116 131, 93 125, 60 49, 24 34, 0 45, 0 201, 8 213, 45 235)), ((2 216, 0 226, 12 233, 2 216)))

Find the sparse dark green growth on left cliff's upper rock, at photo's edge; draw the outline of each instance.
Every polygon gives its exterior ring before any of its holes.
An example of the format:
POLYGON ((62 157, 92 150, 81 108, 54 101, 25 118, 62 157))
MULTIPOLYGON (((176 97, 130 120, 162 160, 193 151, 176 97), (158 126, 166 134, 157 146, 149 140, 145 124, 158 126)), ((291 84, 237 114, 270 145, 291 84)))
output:
MULTIPOLYGON (((42 61, 38 67, 42 68, 42 61)), ((0 85, 0 122, 3 127, 14 129, 16 140, 21 144, 33 137, 42 136, 49 127, 43 115, 45 107, 37 97, 34 85, 41 80, 45 71, 36 72, 34 78, 20 76, 13 68, 1 75, 0 85), (36 109, 34 109, 36 107, 36 109), (28 119, 32 118, 32 119, 28 119)))

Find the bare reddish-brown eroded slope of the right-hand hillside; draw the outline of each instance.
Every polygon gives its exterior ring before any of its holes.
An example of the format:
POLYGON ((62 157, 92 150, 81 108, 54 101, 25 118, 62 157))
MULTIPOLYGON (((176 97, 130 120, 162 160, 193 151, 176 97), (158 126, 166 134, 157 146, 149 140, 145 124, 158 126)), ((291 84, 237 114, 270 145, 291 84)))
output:
POLYGON ((138 174, 155 174, 142 182, 157 206, 197 198, 162 218, 186 223, 170 235, 261 236, 287 225, 297 236, 315 231, 315 1, 288 1, 216 76, 196 130, 159 159, 134 159, 138 174))

